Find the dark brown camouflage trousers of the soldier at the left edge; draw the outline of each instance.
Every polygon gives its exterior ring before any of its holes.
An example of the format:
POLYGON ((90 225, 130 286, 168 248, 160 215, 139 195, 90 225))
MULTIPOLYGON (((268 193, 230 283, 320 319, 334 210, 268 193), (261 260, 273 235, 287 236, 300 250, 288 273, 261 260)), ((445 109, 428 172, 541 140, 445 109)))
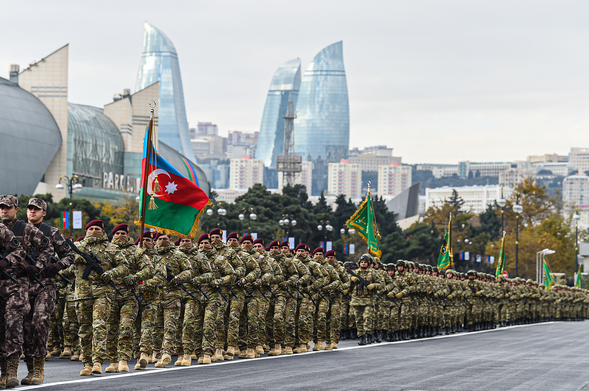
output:
POLYGON ((0 280, 0 362, 18 360, 22 348, 22 324, 31 309, 29 279, 0 280))

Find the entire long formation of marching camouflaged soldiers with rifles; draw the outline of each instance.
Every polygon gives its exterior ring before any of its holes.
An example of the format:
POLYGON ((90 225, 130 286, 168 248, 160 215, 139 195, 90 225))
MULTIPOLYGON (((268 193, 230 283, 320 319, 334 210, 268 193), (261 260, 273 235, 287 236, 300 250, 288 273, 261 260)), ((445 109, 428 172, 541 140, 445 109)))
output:
POLYGON ((305 244, 264 246, 236 232, 225 243, 220 229, 176 242, 145 232, 139 243, 128 225, 109 240, 93 220, 73 242, 42 221, 46 209, 29 200, 25 223, 16 219, 18 199, 0 196, 0 387, 43 383, 52 353, 93 375, 107 360, 106 372, 127 372, 132 357, 143 370, 172 356, 188 366, 307 352, 310 341, 333 350, 343 338, 365 345, 587 318, 583 289, 383 265, 368 254, 342 265, 333 250, 305 244), (21 355, 28 375, 19 380, 21 355))

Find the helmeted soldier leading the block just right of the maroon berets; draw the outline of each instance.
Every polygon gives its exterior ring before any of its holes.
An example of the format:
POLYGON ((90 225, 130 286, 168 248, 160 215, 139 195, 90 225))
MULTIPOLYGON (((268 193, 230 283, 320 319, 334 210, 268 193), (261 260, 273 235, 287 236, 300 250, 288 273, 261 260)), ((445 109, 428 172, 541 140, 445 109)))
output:
POLYGON ((375 269, 370 268, 370 255, 363 254, 358 261, 359 268, 356 269, 356 276, 350 277, 350 285, 352 289, 352 300, 350 306, 354 309, 356 317, 356 329, 358 329, 358 336, 360 341, 358 345, 366 345, 368 343, 368 334, 372 332, 372 318, 374 317, 375 308, 375 292, 382 290, 385 286, 385 281, 382 276, 378 275, 375 269), (362 278, 365 283, 360 283, 362 278))

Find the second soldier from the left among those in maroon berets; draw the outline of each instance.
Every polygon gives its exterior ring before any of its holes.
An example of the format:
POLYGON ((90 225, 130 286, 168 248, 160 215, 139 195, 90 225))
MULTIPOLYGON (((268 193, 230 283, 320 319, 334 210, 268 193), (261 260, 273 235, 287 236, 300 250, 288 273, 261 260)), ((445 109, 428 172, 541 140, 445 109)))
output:
POLYGON ((127 276, 115 279, 117 288, 124 296, 117 295, 111 303, 107 320, 107 358, 111 365, 105 372, 129 372, 127 361, 133 356, 134 322, 139 302, 143 299, 143 295, 137 293, 137 287, 140 281, 153 276, 154 268, 150 257, 144 253, 145 249, 135 246, 133 239, 129 237, 127 224, 122 223, 112 229, 112 244, 118 246, 127 259, 129 271, 127 276))

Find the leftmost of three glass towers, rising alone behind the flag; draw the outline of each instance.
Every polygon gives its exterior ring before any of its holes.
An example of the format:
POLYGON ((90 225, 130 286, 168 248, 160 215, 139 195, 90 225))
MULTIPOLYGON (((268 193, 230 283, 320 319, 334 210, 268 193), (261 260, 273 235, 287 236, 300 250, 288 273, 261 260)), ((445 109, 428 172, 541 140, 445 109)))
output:
POLYGON ((137 72, 135 92, 157 81, 160 82, 158 139, 196 162, 186 121, 184 91, 176 48, 166 34, 145 22, 143 54, 137 72))

